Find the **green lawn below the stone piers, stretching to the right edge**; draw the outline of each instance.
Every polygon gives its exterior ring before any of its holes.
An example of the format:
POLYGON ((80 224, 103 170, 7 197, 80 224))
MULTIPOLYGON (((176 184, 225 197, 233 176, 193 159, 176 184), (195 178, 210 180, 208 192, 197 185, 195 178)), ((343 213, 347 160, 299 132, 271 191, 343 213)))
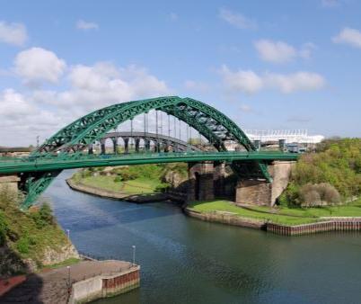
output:
POLYGON ((269 220, 278 224, 299 225, 320 220, 320 217, 361 217, 361 200, 346 206, 324 208, 288 208, 271 209, 263 206, 251 206, 251 210, 238 207, 232 201, 196 201, 189 204, 190 210, 201 213, 226 211, 242 218, 269 220))

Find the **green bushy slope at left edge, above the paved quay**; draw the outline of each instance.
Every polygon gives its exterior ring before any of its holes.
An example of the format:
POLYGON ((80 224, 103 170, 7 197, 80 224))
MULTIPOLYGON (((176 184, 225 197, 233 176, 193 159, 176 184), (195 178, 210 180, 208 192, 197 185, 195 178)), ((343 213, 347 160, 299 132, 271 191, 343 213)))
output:
POLYGON ((41 267, 48 250, 57 253, 66 245, 69 241, 47 204, 23 212, 13 192, 0 191, 0 274, 24 272, 25 259, 41 267))

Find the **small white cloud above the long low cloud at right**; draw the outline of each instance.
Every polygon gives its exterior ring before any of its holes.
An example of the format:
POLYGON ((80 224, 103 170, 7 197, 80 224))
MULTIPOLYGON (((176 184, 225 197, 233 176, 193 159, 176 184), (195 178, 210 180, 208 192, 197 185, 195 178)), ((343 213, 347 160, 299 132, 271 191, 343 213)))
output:
POLYGON ((262 60, 272 63, 286 63, 297 57, 310 58, 315 45, 307 42, 300 49, 295 49, 284 41, 257 40, 254 42, 254 47, 262 60))

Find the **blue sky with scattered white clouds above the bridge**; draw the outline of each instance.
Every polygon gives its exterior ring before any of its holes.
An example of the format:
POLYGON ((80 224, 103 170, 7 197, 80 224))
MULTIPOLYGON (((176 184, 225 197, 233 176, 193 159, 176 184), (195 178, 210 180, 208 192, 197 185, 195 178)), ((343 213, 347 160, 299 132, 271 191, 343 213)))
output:
POLYGON ((361 1, 0 0, 0 146, 163 95, 242 130, 361 137, 361 1))

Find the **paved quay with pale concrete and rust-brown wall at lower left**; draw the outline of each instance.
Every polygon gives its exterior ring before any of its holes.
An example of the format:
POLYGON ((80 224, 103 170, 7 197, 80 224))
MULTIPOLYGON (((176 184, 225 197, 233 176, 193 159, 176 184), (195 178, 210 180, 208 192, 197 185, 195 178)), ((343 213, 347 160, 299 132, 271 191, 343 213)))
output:
POLYGON ((1 299, 6 303, 84 303, 139 287, 138 265, 128 262, 82 261, 32 273, 1 299))

